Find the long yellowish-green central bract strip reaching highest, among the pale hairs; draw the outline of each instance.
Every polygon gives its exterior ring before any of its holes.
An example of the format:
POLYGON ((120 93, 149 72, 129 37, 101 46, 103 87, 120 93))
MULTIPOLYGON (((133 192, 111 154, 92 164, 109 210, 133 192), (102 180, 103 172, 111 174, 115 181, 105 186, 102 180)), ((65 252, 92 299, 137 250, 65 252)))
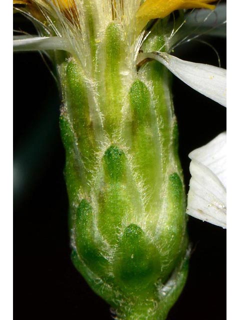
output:
POLYGON ((112 22, 98 45, 94 74, 99 110, 109 142, 120 137, 122 102, 127 91, 120 72, 125 58, 121 28, 118 23, 112 22))

